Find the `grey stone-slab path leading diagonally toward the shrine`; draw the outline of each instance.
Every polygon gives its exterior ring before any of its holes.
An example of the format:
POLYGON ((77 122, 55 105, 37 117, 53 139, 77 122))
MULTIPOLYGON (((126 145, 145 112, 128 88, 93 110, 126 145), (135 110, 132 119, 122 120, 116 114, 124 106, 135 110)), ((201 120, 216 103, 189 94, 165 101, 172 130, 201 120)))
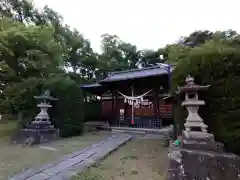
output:
POLYGON ((132 136, 127 134, 115 134, 88 148, 65 155, 54 163, 26 170, 10 180, 67 180, 84 168, 96 163, 131 138, 132 136))

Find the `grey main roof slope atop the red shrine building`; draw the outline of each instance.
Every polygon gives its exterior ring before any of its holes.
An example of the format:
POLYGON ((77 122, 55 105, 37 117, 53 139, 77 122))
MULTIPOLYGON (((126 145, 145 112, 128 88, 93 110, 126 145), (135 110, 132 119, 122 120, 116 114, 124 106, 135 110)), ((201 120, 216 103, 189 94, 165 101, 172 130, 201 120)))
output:
MULTIPOLYGON (((172 70, 173 68, 171 68, 171 71, 172 70)), ((111 74, 109 77, 100 81, 100 83, 130 80, 130 79, 144 78, 144 77, 150 77, 150 76, 159 76, 164 74, 166 75, 168 74, 167 70, 159 66, 154 66, 154 67, 143 68, 143 69, 133 69, 129 71, 115 72, 111 74)))

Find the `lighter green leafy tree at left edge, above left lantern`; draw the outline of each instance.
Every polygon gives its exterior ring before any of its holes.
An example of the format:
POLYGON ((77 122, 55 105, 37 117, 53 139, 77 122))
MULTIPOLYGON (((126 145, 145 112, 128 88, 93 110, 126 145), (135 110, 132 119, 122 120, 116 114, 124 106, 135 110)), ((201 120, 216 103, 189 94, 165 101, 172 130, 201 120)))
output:
MULTIPOLYGON (((11 102, 13 94, 21 97, 21 83, 61 71, 61 46, 50 27, 25 26, 3 18, 0 28, 1 92, 11 102)), ((29 83, 33 85, 31 80, 29 83)))

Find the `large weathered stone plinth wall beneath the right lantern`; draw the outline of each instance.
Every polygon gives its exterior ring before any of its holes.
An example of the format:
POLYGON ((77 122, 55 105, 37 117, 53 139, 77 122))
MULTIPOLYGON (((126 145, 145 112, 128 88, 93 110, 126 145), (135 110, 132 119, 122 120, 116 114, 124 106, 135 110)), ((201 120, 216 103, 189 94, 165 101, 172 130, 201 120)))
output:
POLYGON ((170 145, 168 180, 240 180, 240 157, 170 145))

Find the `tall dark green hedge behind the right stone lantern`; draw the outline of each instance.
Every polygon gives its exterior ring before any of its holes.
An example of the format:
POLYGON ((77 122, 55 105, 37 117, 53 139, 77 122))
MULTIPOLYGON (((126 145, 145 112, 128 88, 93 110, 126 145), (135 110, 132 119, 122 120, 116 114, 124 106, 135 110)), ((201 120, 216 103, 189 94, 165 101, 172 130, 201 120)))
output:
MULTIPOLYGON (((240 51, 219 42, 207 42, 193 48, 188 58, 181 60, 173 73, 173 85, 183 85, 188 74, 201 85, 211 88, 201 98, 206 105, 200 115, 222 141, 228 151, 240 152, 240 51)), ((173 88, 174 88, 173 87, 173 88)), ((184 112, 178 108, 177 119, 183 121, 184 112)))

